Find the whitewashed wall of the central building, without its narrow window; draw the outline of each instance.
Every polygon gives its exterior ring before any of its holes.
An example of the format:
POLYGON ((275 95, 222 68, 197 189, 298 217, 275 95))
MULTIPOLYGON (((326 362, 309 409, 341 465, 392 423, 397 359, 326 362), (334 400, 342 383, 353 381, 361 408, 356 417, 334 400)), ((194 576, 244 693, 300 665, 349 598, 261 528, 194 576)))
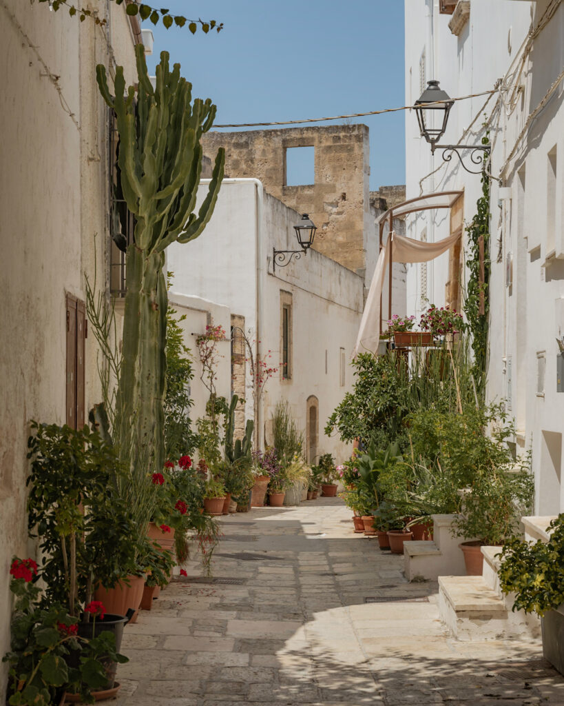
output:
MULTIPOLYGON (((206 184, 200 186, 199 201, 206 190, 206 184)), ((353 383, 348 361, 362 313, 363 280, 316 251, 273 273, 272 249, 296 249, 293 225, 299 220, 300 214, 263 193, 259 182, 228 180, 221 187, 204 234, 186 246, 171 246, 168 269, 175 273, 174 292, 216 301, 228 306, 231 313, 244 316, 250 338, 260 340, 262 352, 271 349, 271 362, 276 367, 281 363, 280 291, 292 294, 293 379, 282 381, 280 373, 271 378, 259 429, 262 435, 264 422, 282 398, 288 400, 305 431, 306 400, 316 395, 319 451, 343 460, 349 451, 338 439, 325 437, 323 428, 353 383), (344 387, 338 367, 341 347, 347 361, 344 387)), ((250 385, 247 376, 248 419, 253 416, 250 385)))

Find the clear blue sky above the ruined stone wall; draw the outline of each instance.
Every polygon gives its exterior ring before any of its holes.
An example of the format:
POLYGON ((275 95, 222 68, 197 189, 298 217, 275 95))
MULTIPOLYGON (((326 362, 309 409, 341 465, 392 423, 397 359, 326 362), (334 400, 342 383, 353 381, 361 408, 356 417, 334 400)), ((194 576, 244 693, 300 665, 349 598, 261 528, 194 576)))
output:
MULTIPOLYGON (((149 71, 166 49, 193 95, 216 103, 219 124, 404 104, 403 0, 168 0, 166 7, 223 22, 208 35, 143 25, 155 38, 149 71)), ((404 184, 403 112, 350 122, 370 128, 370 189, 404 184)))

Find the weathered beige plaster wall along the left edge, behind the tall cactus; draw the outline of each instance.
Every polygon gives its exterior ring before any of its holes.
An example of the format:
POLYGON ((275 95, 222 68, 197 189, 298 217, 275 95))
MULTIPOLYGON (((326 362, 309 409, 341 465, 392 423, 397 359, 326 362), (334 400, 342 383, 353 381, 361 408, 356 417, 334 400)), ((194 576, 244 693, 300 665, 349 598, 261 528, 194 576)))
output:
MULTIPOLYGON (((110 27, 116 60, 128 80, 135 76, 125 7, 111 5, 103 30, 47 3, 0 4, 0 654, 9 645, 11 558, 35 556, 25 512, 28 425, 66 419, 66 293, 85 299, 94 263, 106 286, 106 107, 95 65, 109 65, 110 27), (45 66, 59 77, 61 97, 45 66)), ((100 399, 96 357, 91 334, 87 409, 100 399)), ((0 701, 6 672, 1 665, 0 701)))

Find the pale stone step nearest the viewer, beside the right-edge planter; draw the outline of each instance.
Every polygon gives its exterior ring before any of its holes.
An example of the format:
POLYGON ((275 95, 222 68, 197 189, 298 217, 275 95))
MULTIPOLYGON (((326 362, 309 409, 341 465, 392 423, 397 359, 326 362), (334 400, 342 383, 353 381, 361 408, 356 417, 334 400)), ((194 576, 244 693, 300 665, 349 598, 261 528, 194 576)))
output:
MULTIPOLYGON (((495 562, 491 554, 489 558, 495 562)), ((458 640, 500 640, 539 635, 539 621, 522 612, 508 610, 505 600, 483 576, 439 576, 439 613, 458 640)))

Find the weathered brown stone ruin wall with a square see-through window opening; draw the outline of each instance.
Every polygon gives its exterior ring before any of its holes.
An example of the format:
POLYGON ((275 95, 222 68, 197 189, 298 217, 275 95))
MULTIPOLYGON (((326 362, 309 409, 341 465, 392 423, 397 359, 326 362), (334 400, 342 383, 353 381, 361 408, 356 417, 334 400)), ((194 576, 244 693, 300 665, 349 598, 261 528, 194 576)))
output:
POLYGON ((366 125, 210 132, 204 155, 226 148, 226 176, 255 177, 266 191, 308 213, 314 249, 357 271, 365 267, 366 234, 374 232, 369 203, 369 133, 366 125), (314 148, 314 184, 286 185, 286 149, 314 148))

